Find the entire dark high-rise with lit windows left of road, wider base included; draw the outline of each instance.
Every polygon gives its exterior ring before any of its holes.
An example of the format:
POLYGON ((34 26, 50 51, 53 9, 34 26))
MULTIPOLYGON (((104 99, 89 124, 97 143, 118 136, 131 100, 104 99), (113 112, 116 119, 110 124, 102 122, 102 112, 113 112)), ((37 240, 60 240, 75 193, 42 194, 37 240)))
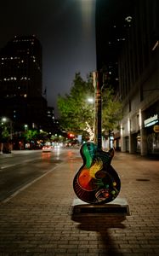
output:
POLYGON ((14 129, 41 127, 46 122, 43 97, 42 46, 33 36, 15 36, 0 50, 0 117, 12 120, 14 129))

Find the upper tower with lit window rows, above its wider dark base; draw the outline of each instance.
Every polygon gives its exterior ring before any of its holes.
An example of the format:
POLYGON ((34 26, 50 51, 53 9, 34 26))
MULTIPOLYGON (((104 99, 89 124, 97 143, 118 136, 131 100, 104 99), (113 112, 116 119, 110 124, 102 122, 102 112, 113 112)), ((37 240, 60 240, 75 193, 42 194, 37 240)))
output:
POLYGON ((42 47, 35 36, 15 36, 0 58, 0 96, 42 96, 42 47))

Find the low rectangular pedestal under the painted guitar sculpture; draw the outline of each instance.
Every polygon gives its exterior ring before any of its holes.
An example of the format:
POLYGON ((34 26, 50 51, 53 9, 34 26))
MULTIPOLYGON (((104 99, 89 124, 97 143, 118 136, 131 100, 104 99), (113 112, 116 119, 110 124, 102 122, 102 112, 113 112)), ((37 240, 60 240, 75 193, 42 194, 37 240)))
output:
POLYGON ((71 205, 72 215, 130 215, 128 202, 126 199, 116 197, 114 201, 106 204, 88 204, 78 198, 75 198, 71 205))

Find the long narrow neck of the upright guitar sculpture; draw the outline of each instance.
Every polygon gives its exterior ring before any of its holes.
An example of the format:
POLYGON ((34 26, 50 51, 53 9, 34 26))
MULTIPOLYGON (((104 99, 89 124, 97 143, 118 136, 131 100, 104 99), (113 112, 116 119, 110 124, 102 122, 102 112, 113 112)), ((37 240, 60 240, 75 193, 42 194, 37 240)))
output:
POLYGON ((101 137, 101 85, 102 74, 95 73, 94 98, 95 98, 95 120, 94 120, 94 143, 99 149, 102 148, 101 137))

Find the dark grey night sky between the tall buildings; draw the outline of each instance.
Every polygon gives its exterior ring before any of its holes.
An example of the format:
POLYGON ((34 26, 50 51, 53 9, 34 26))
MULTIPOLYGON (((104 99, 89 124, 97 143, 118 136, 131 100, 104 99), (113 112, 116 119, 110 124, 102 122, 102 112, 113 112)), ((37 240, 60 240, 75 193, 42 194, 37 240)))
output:
POLYGON ((55 108, 69 93, 75 73, 96 69, 95 0, 2 0, 0 48, 17 36, 35 34, 43 47, 43 90, 55 108))

